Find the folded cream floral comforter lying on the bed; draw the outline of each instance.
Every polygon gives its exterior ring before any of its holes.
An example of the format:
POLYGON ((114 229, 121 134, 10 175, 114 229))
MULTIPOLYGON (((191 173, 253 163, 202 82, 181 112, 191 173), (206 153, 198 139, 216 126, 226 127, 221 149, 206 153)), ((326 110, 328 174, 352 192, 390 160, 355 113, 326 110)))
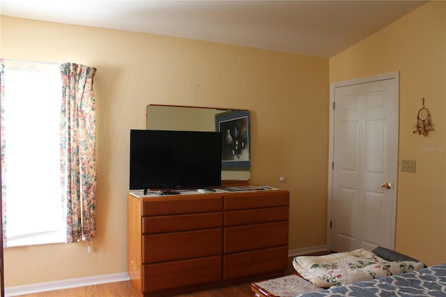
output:
POLYGON ((424 268, 418 261, 386 261, 364 249, 325 256, 299 256, 293 259, 295 270, 318 287, 339 287, 424 268))

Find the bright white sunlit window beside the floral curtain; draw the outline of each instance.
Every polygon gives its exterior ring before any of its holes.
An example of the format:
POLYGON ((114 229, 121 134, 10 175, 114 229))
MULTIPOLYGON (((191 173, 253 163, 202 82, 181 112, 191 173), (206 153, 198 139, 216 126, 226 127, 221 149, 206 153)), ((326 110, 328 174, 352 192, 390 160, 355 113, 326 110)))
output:
POLYGON ((62 243, 58 65, 6 61, 6 246, 62 243))

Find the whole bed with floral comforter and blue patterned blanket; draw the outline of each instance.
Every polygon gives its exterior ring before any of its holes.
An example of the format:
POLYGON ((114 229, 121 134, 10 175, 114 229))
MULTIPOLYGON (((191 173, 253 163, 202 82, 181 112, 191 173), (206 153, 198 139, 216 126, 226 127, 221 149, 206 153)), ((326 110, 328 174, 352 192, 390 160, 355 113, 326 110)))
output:
POLYGON ((446 264, 426 268, 416 259, 382 247, 346 255, 295 257, 293 266, 297 275, 254 283, 256 296, 446 296, 446 264), (349 259, 352 255, 359 260, 349 259), (339 270, 344 266, 348 273, 339 270), (319 275, 314 273, 318 270, 319 275), (334 277, 325 277, 330 273, 334 277))

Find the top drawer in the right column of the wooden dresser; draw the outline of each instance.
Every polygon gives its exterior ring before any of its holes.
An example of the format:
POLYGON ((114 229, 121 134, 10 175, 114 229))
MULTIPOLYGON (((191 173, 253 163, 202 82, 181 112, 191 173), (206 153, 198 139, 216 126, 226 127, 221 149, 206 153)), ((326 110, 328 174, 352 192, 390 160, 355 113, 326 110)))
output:
POLYGON ((224 211, 289 206, 289 192, 277 190, 224 196, 224 211))

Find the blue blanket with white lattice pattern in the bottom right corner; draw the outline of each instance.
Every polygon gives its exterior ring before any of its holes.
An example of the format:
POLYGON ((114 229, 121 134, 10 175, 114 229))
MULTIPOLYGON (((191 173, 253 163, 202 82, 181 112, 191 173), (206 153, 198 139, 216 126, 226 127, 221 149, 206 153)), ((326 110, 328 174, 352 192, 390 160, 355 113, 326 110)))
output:
POLYGON ((419 271, 392 275, 334 287, 324 291, 299 294, 299 297, 317 296, 446 296, 446 264, 419 271))

